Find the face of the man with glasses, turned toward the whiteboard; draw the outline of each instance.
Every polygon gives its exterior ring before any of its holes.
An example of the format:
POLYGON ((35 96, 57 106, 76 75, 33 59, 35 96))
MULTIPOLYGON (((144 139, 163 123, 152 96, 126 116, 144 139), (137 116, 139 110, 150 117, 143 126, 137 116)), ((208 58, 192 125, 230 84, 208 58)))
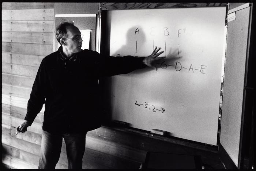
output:
POLYGON ((67 39, 65 40, 65 47, 69 53, 78 53, 82 49, 82 38, 80 37, 81 32, 78 28, 68 26, 67 28, 67 39))

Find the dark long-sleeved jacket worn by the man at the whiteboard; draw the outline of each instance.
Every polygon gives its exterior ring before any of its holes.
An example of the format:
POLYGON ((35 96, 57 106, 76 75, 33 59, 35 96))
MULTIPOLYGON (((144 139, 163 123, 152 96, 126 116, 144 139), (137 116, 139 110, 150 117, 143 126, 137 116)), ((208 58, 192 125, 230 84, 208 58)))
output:
POLYGON ((45 103, 43 130, 86 132, 101 127, 98 79, 145 68, 144 57, 103 56, 82 50, 68 59, 62 46, 46 56, 38 69, 25 120, 31 123, 45 103))

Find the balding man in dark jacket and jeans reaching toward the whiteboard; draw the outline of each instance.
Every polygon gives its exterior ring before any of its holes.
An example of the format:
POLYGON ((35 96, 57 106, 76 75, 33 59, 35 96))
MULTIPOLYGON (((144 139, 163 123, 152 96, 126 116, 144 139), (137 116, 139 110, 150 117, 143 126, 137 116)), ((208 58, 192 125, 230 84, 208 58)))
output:
POLYGON ((148 57, 103 56, 82 50, 82 37, 73 23, 56 28, 60 48, 46 56, 38 69, 27 105, 25 121, 16 127, 26 132, 45 104, 41 155, 38 168, 55 168, 62 138, 66 143, 68 168, 82 168, 87 131, 101 127, 98 79, 153 67, 163 57, 155 48, 148 57), (96 110, 96 111, 95 111, 96 110))

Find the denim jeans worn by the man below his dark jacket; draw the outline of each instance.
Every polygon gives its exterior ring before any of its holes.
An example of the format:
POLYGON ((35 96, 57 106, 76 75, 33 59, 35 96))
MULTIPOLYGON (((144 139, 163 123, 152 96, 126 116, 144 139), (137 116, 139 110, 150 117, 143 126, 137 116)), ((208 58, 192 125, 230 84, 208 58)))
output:
POLYGON ((62 138, 65 140, 68 168, 82 169, 86 133, 52 134, 43 131, 39 169, 54 169, 60 158, 62 138))

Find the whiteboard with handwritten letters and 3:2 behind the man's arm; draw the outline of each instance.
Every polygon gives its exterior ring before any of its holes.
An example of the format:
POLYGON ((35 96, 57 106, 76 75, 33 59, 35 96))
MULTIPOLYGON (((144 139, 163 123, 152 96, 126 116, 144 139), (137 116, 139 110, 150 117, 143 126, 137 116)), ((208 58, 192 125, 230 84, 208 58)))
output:
MULTIPOLYGON (((217 145, 225 7, 107 12, 110 56, 166 58, 109 78, 112 120, 217 145)), ((225 52, 225 51, 224 51, 225 52)))

